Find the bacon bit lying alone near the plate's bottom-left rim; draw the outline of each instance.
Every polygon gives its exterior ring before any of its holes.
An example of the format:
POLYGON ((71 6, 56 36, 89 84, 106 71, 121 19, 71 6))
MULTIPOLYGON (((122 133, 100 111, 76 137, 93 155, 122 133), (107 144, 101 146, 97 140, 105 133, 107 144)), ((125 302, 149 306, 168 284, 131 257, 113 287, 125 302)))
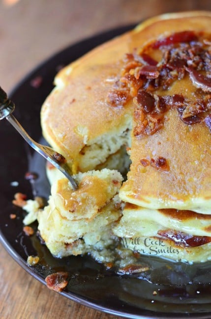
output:
POLYGON ((68 273, 65 271, 59 271, 48 275, 45 278, 47 287, 55 292, 62 292, 62 290, 67 286, 68 281, 66 280, 68 273))

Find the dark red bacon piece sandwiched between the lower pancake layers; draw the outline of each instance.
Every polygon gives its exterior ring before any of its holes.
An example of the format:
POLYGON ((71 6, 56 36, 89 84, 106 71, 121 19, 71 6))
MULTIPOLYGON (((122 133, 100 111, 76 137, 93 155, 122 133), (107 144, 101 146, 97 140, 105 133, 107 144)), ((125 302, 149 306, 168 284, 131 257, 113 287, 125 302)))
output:
POLYGON ((178 245, 183 244, 185 247, 198 247, 211 242, 208 236, 193 236, 176 230, 159 230, 158 235, 174 240, 178 245))

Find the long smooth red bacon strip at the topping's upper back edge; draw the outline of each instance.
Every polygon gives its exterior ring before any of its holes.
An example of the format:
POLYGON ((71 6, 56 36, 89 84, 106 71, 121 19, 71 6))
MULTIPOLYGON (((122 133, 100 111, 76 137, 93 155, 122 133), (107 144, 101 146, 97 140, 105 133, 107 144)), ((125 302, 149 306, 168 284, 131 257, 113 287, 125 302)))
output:
POLYGON ((193 31, 181 31, 181 32, 175 32, 171 34, 170 36, 166 38, 161 38, 154 43, 152 43, 151 47, 153 49, 159 49, 163 46, 168 46, 171 44, 176 43, 185 43, 185 42, 191 42, 191 41, 197 41, 198 37, 195 32, 193 31))

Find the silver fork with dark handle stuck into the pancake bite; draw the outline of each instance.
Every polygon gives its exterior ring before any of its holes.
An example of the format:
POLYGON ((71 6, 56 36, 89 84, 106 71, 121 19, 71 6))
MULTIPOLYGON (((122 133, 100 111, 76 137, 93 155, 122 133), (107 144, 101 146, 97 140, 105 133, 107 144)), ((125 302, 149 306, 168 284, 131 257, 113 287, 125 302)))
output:
POLYGON ((16 120, 16 118, 11 114, 14 109, 14 103, 8 99, 6 92, 4 92, 4 90, 0 87, 0 120, 6 118, 7 121, 12 124, 12 126, 23 136, 23 138, 35 151, 37 151, 65 175, 65 177, 70 181, 72 188, 76 190, 78 186, 71 176, 71 171, 66 163, 65 158, 61 154, 55 152, 51 147, 35 142, 24 130, 21 124, 16 120))

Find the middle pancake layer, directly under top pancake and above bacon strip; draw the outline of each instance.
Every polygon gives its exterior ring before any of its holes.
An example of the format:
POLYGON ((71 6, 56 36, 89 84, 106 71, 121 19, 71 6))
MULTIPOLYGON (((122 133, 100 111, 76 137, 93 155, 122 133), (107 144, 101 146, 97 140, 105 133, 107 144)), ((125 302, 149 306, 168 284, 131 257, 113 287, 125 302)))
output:
POLYGON ((150 210, 126 204, 114 233, 119 237, 143 237, 157 235, 159 230, 165 229, 211 237, 211 214, 175 209, 150 210))

